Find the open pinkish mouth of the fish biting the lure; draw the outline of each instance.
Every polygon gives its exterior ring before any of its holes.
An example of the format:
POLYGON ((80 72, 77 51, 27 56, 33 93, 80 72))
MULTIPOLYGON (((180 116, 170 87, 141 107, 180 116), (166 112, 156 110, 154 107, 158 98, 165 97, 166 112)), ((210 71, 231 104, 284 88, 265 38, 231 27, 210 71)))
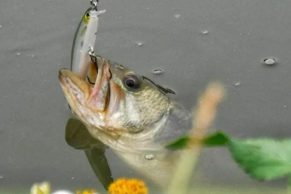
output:
MULTIPOLYGON (((105 112, 110 101, 110 65, 98 57, 97 78, 95 84, 82 80, 68 69, 61 69, 59 80, 65 97, 74 113, 84 112, 83 108, 88 108, 93 112, 105 112)), ((92 71, 92 69, 91 69, 92 71)))

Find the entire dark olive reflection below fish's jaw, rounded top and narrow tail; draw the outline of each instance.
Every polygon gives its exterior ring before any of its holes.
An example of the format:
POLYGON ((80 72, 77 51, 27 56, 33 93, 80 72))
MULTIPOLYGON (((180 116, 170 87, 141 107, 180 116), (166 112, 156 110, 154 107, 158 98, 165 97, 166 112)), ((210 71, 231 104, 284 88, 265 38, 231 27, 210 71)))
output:
POLYGON ((73 118, 67 121, 65 140, 69 146, 85 151, 96 177, 103 187, 108 189, 113 178, 105 156, 106 146, 93 138, 81 121, 73 118))

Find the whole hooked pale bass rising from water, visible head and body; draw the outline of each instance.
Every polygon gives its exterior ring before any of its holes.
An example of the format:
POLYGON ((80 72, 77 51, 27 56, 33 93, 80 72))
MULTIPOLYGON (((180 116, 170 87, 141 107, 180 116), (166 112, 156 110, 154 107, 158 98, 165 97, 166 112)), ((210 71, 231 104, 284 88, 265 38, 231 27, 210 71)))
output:
POLYGON ((192 113, 164 88, 123 65, 96 57, 95 84, 61 69, 59 80, 72 113, 89 133, 137 172, 165 187, 180 151, 165 145, 187 134, 192 113))

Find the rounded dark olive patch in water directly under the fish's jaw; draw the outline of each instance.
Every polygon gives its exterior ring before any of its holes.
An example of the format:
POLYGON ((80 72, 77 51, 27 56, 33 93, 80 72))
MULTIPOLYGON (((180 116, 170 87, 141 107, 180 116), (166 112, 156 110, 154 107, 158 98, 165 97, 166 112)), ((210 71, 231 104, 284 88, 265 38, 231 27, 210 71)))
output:
POLYGON ((91 136, 86 126, 79 120, 69 118, 65 128, 65 141, 75 149, 104 148, 105 145, 91 136))

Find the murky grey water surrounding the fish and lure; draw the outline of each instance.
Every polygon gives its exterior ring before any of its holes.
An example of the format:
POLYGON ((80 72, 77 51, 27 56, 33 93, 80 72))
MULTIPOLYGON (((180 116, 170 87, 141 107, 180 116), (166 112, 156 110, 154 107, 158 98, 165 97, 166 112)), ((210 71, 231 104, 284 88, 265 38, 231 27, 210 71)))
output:
MULTIPOLYGON (((221 81, 227 97, 216 129, 234 137, 290 136, 290 0, 99 1, 106 13, 98 55, 171 88, 186 106, 210 81, 221 81), (267 58, 275 65, 264 65, 267 58)), ((0 193, 29 191, 43 180, 54 189, 102 188, 83 151, 65 143, 72 114, 57 79, 70 66, 88 6, 89 0, 0 1, 0 193)), ((114 178, 146 179, 111 150, 106 155, 114 178)), ((248 178, 224 148, 204 150, 196 174, 197 182, 217 185, 281 184, 248 178)))

